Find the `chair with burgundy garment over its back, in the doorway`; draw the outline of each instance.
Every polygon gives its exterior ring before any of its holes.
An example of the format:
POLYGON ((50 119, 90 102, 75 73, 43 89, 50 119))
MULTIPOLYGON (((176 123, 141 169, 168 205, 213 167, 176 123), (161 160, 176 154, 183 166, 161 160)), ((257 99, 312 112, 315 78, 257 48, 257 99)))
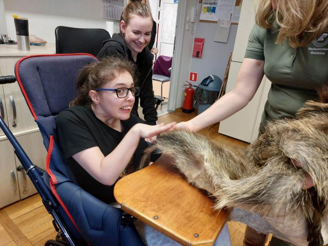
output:
MULTIPOLYGON (((153 67, 153 77, 155 81, 159 81, 160 85, 160 98, 163 100, 163 84, 171 80, 171 67, 172 67, 172 57, 160 55, 157 57, 153 67)), ((167 102, 162 102, 164 104, 167 102)))

